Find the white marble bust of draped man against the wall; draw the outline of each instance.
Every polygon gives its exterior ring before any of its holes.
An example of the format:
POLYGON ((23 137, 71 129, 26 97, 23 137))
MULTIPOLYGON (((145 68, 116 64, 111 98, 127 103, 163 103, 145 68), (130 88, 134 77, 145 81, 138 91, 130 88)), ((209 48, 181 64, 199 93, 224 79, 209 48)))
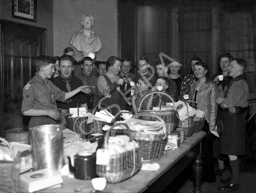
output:
POLYGON ((83 29, 74 33, 70 43, 77 51, 82 52, 86 57, 90 52, 98 52, 102 48, 101 39, 93 32, 94 18, 91 15, 84 15, 80 21, 83 29))

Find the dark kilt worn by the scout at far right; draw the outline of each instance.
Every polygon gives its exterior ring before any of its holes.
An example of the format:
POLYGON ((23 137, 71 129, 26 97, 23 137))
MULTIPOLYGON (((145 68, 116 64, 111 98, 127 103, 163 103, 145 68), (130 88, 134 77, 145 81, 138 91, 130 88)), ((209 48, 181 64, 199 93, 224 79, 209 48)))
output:
POLYGON ((221 136, 220 153, 227 155, 244 155, 245 124, 242 114, 222 112, 223 134, 221 136))

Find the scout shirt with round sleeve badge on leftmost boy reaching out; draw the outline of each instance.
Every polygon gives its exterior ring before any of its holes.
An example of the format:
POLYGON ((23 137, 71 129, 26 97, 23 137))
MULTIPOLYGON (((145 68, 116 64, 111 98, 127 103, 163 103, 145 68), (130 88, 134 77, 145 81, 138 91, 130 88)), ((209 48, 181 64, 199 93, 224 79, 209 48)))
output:
POLYGON ((56 100, 65 101, 66 92, 53 83, 43 79, 37 72, 23 88, 21 113, 31 108, 38 110, 57 110, 56 100))

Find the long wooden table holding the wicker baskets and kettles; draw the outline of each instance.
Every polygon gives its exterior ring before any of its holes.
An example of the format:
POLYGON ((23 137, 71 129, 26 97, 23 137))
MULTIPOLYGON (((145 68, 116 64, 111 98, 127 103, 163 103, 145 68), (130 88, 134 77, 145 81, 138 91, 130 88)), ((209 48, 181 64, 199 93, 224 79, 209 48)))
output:
MULTIPOLYGON (((192 161, 194 173, 194 193, 201 192, 202 160, 200 154, 200 141, 206 136, 206 132, 194 133, 191 137, 185 138, 178 150, 170 150, 168 154, 155 161, 160 165, 158 171, 139 171, 131 178, 117 184, 107 183, 103 193, 136 193, 136 192, 162 192, 181 171, 192 161)), ((91 180, 78 180, 63 177, 62 187, 39 191, 41 193, 73 193, 81 189, 82 193, 92 191, 91 180)))

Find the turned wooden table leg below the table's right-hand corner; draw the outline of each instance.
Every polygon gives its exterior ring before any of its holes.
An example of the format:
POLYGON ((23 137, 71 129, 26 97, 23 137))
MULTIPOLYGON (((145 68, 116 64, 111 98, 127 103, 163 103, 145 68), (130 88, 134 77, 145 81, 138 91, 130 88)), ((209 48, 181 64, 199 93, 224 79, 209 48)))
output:
POLYGON ((202 180, 202 154, 199 153, 193 165, 193 193, 201 193, 201 180, 202 180))

